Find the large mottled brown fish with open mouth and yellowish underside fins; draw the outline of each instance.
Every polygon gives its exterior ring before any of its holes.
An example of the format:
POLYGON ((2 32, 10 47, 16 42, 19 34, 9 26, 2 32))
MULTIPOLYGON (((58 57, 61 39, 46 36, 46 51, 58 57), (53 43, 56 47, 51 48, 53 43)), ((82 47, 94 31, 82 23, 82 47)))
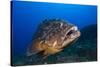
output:
POLYGON ((63 50, 63 47, 80 36, 77 26, 60 19, 44 20, 37 29, 27 55, 44 51, 48 56, 63 50))

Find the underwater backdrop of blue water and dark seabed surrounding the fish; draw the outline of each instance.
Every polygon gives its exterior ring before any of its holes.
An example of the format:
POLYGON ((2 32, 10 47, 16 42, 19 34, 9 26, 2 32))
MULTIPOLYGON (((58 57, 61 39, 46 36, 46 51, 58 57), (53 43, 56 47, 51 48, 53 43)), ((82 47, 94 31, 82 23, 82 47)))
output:
POLYGON ((52 64, 97 60, 97 6, 11 1, 11 65, 52 64), (63 19, 78 26, 81 37, 45 60, 27 58, 26 51, 38 25, 45 19, 63 19))

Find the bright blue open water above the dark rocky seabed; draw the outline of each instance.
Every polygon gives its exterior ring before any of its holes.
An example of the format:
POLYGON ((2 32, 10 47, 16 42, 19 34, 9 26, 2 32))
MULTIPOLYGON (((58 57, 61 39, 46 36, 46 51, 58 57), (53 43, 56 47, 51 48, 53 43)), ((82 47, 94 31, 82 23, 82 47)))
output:
POLYGON ((97 23, 97 6, 25 1, 11 3, 13 56, 26 53, 33 33, 44 19, 64 19, 79 29, 97 23))

